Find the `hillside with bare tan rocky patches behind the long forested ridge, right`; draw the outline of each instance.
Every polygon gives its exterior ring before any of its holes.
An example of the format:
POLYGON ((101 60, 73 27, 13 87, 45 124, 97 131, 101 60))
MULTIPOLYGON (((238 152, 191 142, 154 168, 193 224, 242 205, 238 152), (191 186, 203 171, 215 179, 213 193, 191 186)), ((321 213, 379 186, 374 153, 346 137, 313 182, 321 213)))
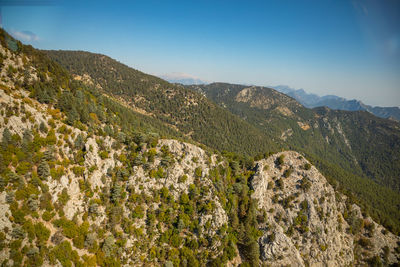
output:
POLYGON ((264 131, 283 147, 305 153, 331 181, 362 199, 375 219, 400 230, 397 122, 367 112, 307 109, 265 87, 213 83, 190 88, 264 131))

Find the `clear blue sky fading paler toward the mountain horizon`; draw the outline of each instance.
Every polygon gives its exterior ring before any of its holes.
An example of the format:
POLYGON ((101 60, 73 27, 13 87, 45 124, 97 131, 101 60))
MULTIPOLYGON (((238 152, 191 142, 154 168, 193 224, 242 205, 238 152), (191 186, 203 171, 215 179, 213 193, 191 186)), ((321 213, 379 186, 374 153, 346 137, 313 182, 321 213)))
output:
POLYGON ((106 54, 151 74, 289 85, 400 106, 400 1, 0 0, 41 49, 106 54))

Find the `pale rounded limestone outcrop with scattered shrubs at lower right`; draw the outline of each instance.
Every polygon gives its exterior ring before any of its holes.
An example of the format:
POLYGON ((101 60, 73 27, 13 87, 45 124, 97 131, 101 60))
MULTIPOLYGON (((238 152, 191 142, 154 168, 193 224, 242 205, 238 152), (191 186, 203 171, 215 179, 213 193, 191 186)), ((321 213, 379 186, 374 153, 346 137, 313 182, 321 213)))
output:
POLYGON ((357 205, 346 207, 345 197, 299 153, 281 152, 258 161, 251 185, 252 197, 267 217, 259 240, 263 262, 272 266, 345 266, 360 262, 354 258, 355 247, 373 256, 379 255, 383 244, 391 248, 389 261, 396 261, 394 248, 399 238, 389 233, 382 236, 380 231, 349 231, 345 210, 355 222, 375 223, 363 218, 357 205), (375 245, 364 249, 356 242, 367 234, 375 245))

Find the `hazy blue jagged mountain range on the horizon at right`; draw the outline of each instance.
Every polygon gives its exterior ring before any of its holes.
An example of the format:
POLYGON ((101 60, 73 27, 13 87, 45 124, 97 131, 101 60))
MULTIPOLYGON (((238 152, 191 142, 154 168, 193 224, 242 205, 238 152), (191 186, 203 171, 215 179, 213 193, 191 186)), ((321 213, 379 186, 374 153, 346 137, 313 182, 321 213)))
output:
POLYGON ((348 100, 335 95, 326 95, 321 97, 316 94, 309 94, 303 89, 293 89, 286 85, 273 86, 272 88, 293 97, 308 108, 326 106, 331 109, 348 111, 364 110, 381 118, 389 118, 400 121, 400 109, 398 107, 373 107, 356 99, 348 100))

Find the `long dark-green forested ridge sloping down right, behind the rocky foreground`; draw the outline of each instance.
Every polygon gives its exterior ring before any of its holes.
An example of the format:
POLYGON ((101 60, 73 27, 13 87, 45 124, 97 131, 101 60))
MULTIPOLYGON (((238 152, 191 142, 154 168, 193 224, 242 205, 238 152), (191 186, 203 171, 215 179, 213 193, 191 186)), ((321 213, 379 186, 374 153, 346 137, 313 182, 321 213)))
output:
POLYGON ((256 127, 193 90, 147 75, 104 55, 79 51, 45 52, 74 74, 75 79, 93 84, 102 92, 207 146, 248 155, 277 148, 256 127))

